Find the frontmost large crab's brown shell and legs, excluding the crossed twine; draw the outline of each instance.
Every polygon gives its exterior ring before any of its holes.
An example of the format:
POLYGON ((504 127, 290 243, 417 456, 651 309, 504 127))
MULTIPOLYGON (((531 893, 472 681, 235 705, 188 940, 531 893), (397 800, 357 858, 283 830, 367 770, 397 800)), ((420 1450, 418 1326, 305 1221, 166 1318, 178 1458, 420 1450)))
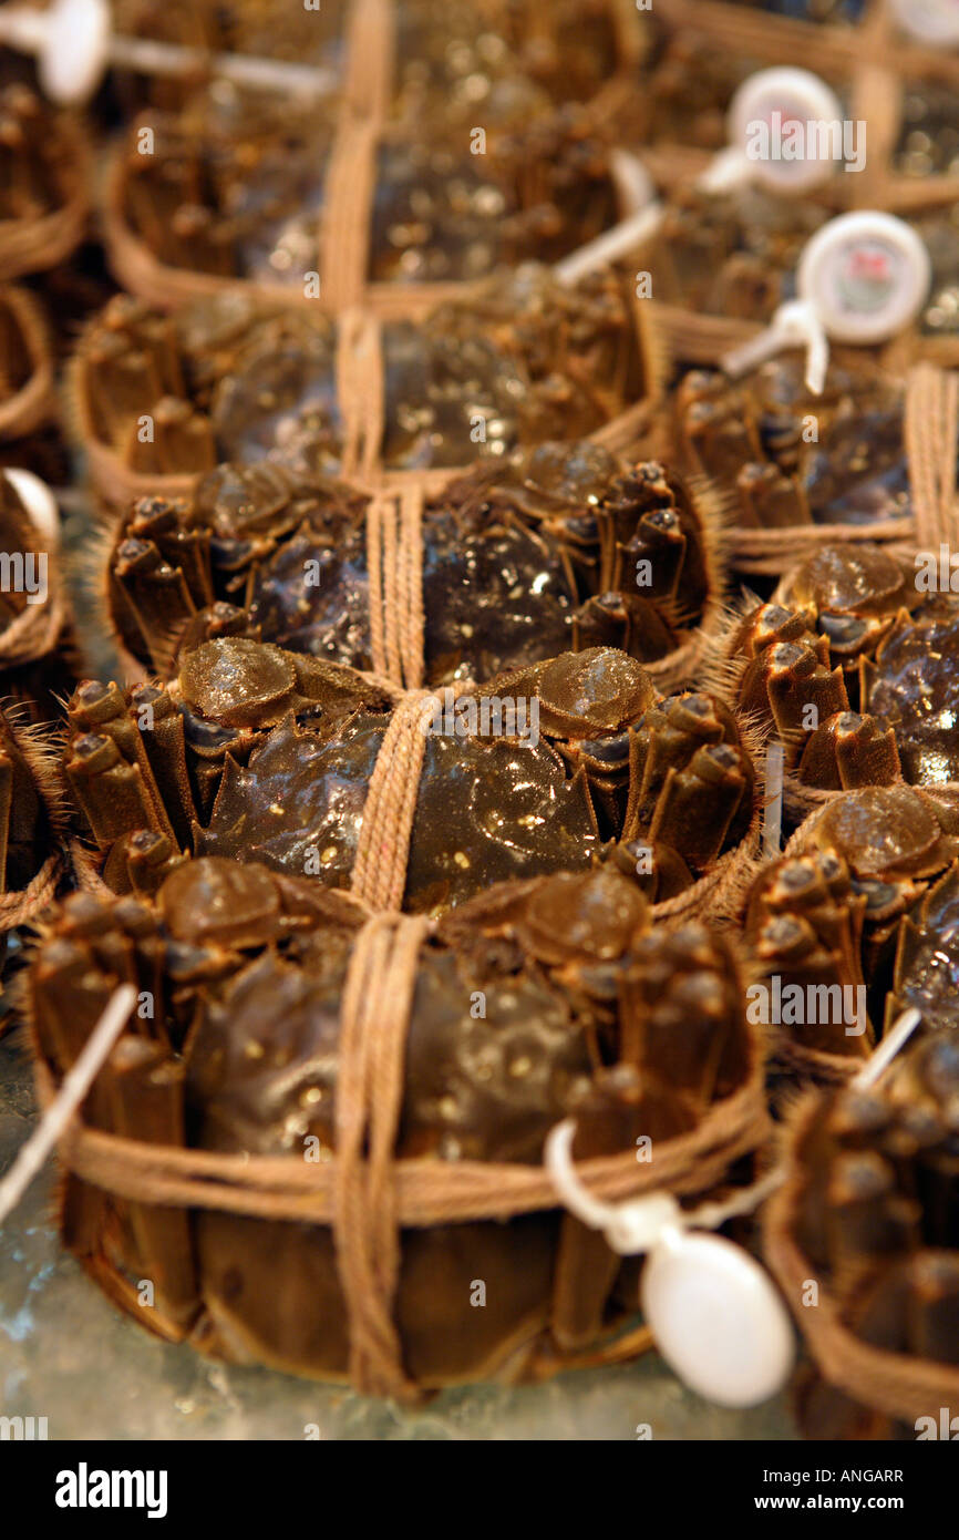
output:
MULTIPOLYGON (((312 1146, 336 1158, 339 1001, 363 918, 303 879, 217 859, 180 867, 154 902, 69 899, 31 962, 40 1058, 63 1073, 111 992, 131 979, 152 1013, 99 1076, 92 1127, 252 1157, 302 1160, 312 1146)), ((702 926, 650 930, 642 895, 613 872, 505 884, 420 950, 396 1153, 539 1164, 566 1115, 579 1158, 633 1150, 640 1135, 665 1144, 754 1064, 720 938, 702 926)), ((114 1301, 162 1335, 189 1334, 243 1363, 346 1377, 326 1227, 142 1206, 75 1177, 62 1224, 114 1301), (155 1286, 148 1312, 135 1303, 142 1278, 155 1286)), ((537 1358, 559 1368, 634 1312, 634 1289, 636 1263, 554 1210, 406 1229, 396 1298, 405 1369, 436 1388, 517 1378, 537 1358), (471 1304, 477 1278, 482 1311, 471 1304)))

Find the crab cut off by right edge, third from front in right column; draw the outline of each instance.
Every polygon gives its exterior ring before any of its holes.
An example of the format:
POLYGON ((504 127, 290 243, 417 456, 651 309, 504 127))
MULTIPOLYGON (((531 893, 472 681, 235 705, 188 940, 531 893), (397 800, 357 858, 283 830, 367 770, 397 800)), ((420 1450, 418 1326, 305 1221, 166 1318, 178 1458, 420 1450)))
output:
POLYGON ((813 788, 959 781, 959 602, 874 545, 824 547, 730 627, 713 670, 813 788))

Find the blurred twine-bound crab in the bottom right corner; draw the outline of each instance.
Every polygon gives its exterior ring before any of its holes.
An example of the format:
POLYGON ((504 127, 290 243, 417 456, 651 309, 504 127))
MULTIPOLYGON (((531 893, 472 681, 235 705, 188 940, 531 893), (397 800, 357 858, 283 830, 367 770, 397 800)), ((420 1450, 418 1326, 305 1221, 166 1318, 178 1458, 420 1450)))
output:
POLYGON ((957 1107, 951 1023, 879 1083, 808 1095, 790 1118, 765 1257, 816 1363, 796 1388, 808 1437, 951 1437, 957 1107))

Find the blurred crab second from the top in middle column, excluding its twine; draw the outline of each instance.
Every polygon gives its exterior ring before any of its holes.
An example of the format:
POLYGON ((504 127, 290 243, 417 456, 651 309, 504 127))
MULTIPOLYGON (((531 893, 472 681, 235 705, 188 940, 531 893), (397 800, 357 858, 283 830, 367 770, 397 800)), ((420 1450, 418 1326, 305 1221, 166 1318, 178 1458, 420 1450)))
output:
MULTIPOLYGON (((388 132, 374 156, 366 271, 374 283, 474 282, 503 265, 557 260, 616 222, 610 145, 588 108, 539 100, 514 120, 388 132)), ((288 286, 323 273, 325 208, 337 196, 334 103, 211 95, 149 111, 128 134, 117 182, 123 239, 166 268, 288 286), (154 137, 142 152, 142 136, 154 137)), ((354 182, 359 194, 360 182, 354 182)), ((334 214, 336 214, 334 208, 334 214)), ((332 216, 331 216, 332 217, 332 216)), ((359 217, 359 216, 357 216, 359 217)), ((322 293, 322 291, 320 291, 322 293)))

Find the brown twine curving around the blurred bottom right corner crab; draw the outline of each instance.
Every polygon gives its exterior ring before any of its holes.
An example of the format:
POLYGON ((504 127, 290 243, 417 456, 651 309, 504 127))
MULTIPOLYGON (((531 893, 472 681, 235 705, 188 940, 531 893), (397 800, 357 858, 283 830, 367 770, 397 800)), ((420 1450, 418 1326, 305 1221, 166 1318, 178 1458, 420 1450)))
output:
POLYGON ((819 1106, 804 1100, 785 1129, 790 1177, 770 1198, 764 1215, 765 1258, 776 1274, 820 1374, 865 1406, 913 1421, 941 1406, 959 1403, 959 1369, 953 1364, 888 1352, 864 1343, 845 1324, 839 1301, 819 1281, 819 1304, 805 1307, 802 1291, 814 1278, 813 1263, 796 1240, 804 1172, 799 1147, 819 1106))

